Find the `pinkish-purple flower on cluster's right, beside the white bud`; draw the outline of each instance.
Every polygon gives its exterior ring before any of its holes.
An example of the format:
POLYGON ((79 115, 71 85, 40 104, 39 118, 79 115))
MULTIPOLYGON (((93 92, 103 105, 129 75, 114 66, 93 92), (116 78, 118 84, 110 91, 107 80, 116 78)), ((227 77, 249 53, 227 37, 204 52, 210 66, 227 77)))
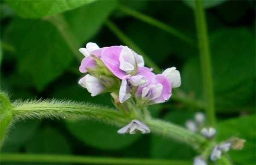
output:
POLYGON ((138 75, 143 75, 147 82, 139 86, 136 96, 145 99, 149 103, 163 103, 172 96, 172 86, 166 76, 155 75, 153 72, 141 71, 138 75))

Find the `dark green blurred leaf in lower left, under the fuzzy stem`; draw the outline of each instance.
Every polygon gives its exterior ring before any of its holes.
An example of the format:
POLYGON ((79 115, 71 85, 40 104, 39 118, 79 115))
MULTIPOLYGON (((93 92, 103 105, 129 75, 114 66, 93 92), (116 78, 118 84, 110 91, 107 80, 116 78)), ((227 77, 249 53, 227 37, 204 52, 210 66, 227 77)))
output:
POLYGON ((40 123, 41 121, 36 119, 14 123, 13 128, 9 130, 1 152, 19 151, 24 143, 34 136, 40 123))

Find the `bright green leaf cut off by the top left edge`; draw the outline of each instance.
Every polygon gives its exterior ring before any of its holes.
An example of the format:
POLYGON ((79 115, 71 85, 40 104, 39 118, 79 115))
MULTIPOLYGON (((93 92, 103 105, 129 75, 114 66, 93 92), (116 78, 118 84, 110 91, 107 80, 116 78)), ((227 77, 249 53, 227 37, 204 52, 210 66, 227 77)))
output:
POLYGON ((94 0, 9 0, 7 3, 17 15, 40 18, 75 9, 94 0))

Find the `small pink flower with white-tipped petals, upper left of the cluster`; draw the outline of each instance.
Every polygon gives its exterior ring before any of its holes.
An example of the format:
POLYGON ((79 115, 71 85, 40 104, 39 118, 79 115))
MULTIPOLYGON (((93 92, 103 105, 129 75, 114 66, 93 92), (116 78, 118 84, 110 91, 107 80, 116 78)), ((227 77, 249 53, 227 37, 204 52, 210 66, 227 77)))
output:
POLYGON ((87 43, 86 48, 80 48, 79 52, 81 52, 84 55, 84 59, 81 62, 81 65, 79 67, 79 71, 82 73, 86 73, 86 68, 95 68, 96 62, 90 55, 95 55, 96 57, 100 58, 102 50, 106 47, 99 48, 99 46, 96 43, 87 43))

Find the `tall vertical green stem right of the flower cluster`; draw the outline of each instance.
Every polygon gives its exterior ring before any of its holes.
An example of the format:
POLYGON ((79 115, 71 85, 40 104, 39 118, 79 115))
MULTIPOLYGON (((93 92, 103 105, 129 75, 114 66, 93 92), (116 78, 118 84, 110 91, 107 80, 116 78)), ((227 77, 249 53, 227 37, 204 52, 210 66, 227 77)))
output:
POLYGON ((211 56, 207 35, 207 25, 203 9, 203 0, 195 0, 195 21, 198 33, 198 45, 201 58, 201 70, 204 83, 204 99, 208 124, 215 125, 215 105, 212 87, 211 56))

